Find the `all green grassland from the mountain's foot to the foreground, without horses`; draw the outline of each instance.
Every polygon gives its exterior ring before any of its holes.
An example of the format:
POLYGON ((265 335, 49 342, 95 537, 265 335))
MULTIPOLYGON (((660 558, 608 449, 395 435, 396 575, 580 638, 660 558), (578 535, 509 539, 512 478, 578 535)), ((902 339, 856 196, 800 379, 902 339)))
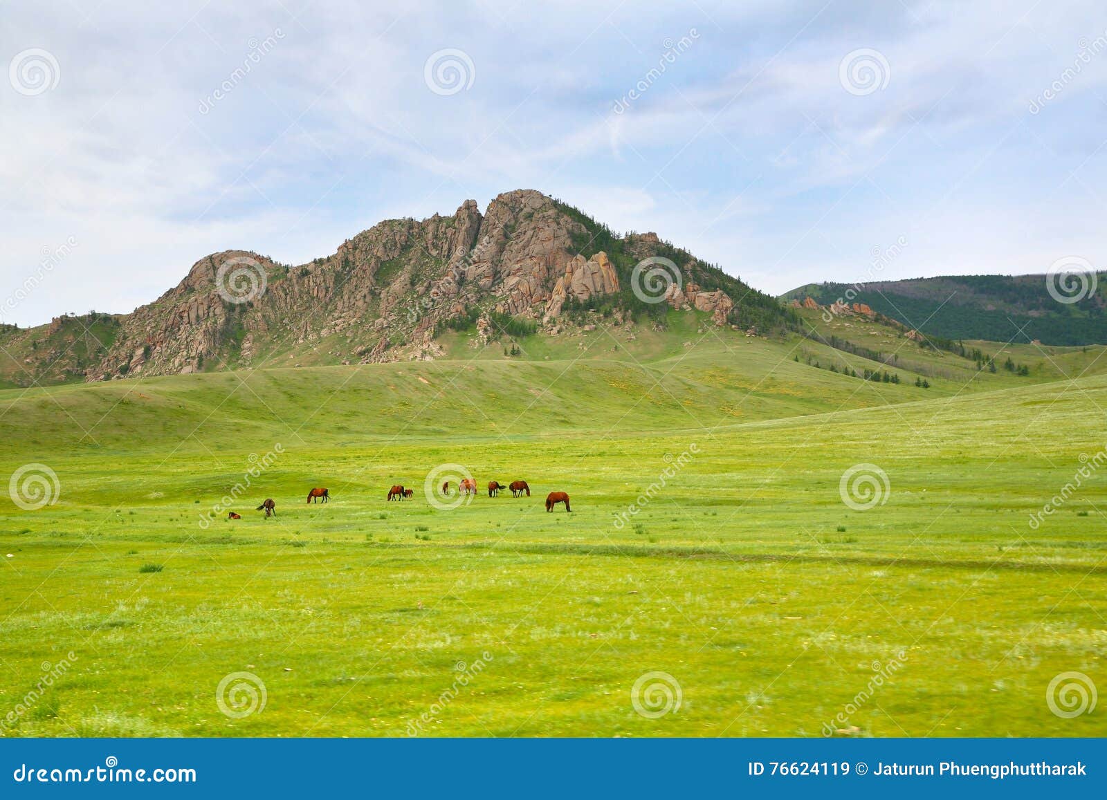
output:
POLYGON ((2 476, 60 487, 0 498, 0 720, 73 654, 0 735, 1107 735, 1046 703, 1061 673, 1107 686, 1103 478, 1028 523, 1107 446, 1103 347, 990 374, 852 324, 900 384, 671 314, 516 357, 463 333, 436 362, 0 392, 2 476), (438 508, 447 464, 532 496, 438 508), (867 510, 857 465, 887 475, 867 510), (200 523, 245 482, 241 520, 200 523), (260 713, 220 713, 236 672, 260 713), (651 672, 680 687, 658 718, 651 672))

